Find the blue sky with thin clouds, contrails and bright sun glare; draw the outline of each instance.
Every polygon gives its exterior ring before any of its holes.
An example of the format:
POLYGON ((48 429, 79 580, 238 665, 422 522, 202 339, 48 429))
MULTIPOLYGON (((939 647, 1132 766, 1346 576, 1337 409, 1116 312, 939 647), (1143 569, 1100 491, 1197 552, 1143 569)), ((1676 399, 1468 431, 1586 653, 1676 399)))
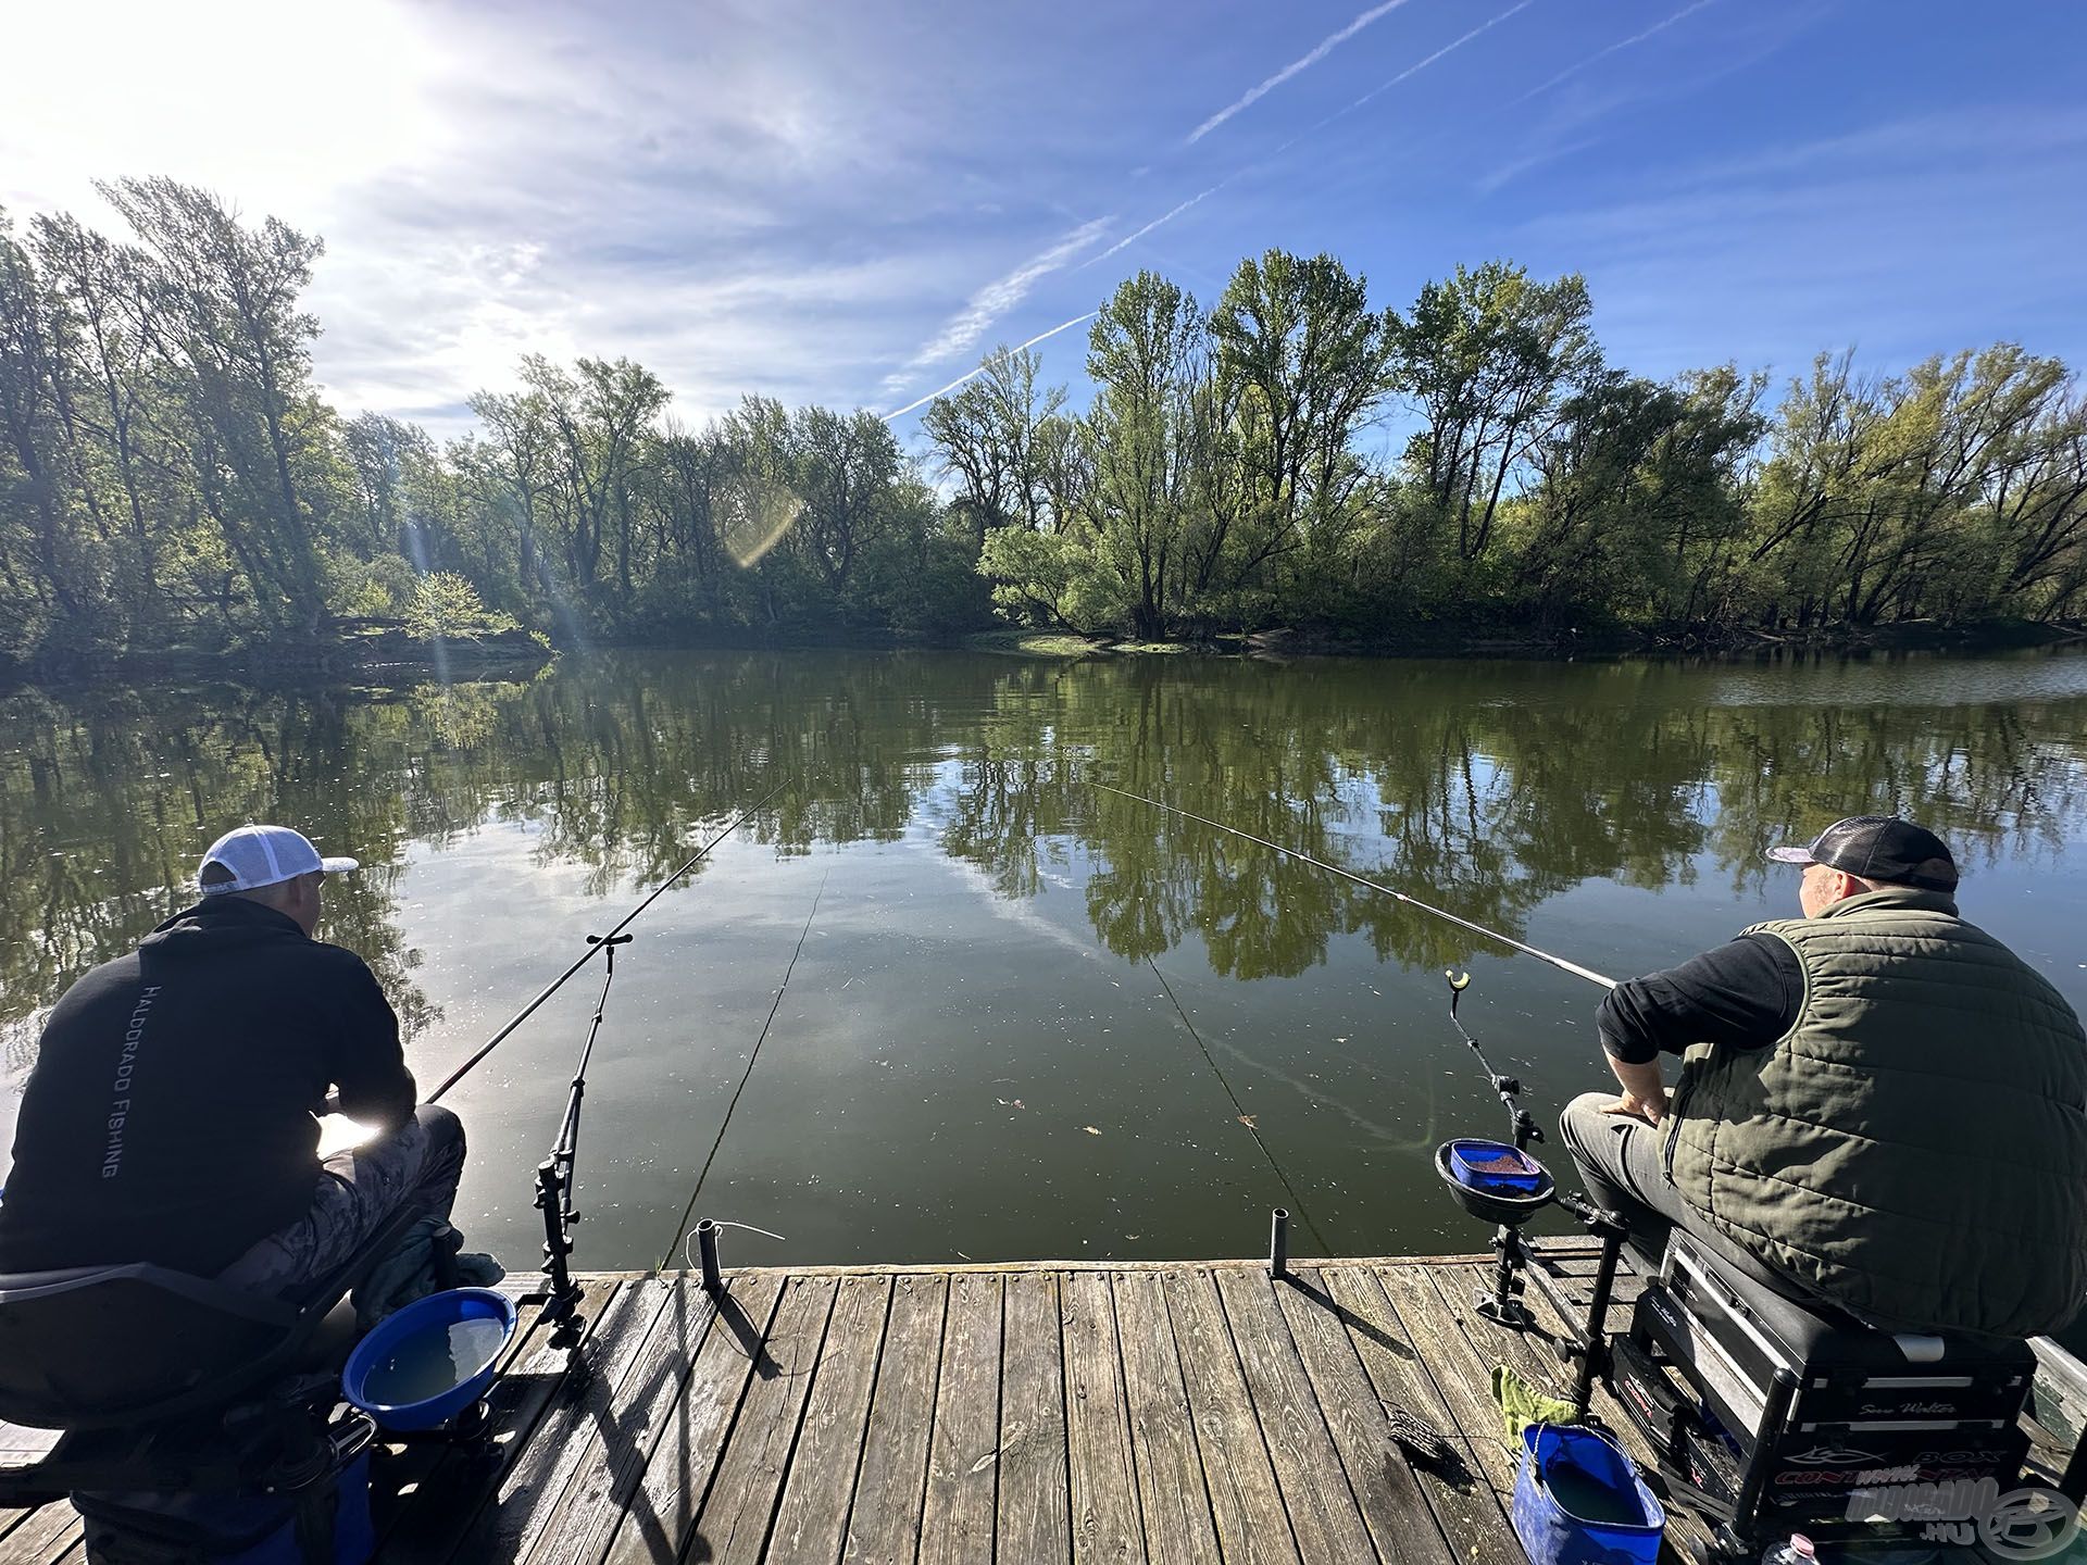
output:
POLYGON ((2087 363, 2087 6, 17 0, 0 207, 169 173, 323 236, 315 367, 440 436, 524 353, 701 424, 918 403, 1140 269, 1327 250, 1405 309, 1580 271, 1611 363, 2087 363))

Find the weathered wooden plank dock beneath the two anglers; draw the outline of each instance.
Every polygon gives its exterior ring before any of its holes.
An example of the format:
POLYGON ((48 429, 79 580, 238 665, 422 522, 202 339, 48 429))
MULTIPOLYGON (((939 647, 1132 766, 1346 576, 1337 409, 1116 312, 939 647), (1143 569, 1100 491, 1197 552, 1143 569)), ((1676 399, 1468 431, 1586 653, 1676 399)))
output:
MULTIPOLYGON (((518 1335, 490 1450, 380 1448, 378 1557, 1519 1565, 1490 1373, 1565 1371, 1471 1310, 1486 1265, 760 1269, 722 1306, 595 1275, 576 1356, 518 1335), (1405 1459, 1388 1404, 1448 1469, 1405 1459)), ((71 1507, 0 1517, 0 1565, 46 1561, 83 1561, 71 1507)))

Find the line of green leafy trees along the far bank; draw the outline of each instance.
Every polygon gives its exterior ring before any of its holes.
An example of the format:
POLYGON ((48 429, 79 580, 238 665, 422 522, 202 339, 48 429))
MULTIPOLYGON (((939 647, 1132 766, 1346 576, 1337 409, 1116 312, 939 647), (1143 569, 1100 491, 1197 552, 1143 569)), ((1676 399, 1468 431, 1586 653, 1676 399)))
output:
POLYGON ((1578 275, 1459 267, 1373 307, 1334 257, 1208 309, 1144 271, 1085 409, 1000 351, 929 405, 747 396, 678 424, 628 359, 522 361, 436 442, 319 394, 317 238, 171 179, 125 234, 0 213, 0 655, 227 649, 405 618, 555 641, 1142 639, 1277 626, 1651 630, 2066 618, 2087 403, 2016 344, 1609 365, 1578 275))

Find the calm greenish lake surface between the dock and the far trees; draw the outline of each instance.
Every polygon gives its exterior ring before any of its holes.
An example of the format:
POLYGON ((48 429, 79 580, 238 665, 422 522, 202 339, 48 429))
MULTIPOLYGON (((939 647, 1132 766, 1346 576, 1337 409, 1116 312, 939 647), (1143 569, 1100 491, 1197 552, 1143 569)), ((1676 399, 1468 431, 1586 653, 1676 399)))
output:
MULTIPOLYGON (((1442 968, 1471 970, 1463 1016, 1544 1118, 1605 1079, 1599 993, 1089 776, 1611 974, 1793 912, 1761 849, 1897 808, 1958 845, 1966 914, 2087 1008, 2083 735, 2083 655, 735 653, 449 691, 23 693, 0 699, 0 1129, 38 1010, 184 906, 230 824, 363 858, 328 933, 434 1083, 781 782, 622 949, 576 1265, 676 1250, 705 1160, 695 1217, 785 1235, 728 1231, 728 1265, 1254 1254, 1273 1204, 1300 1208, 1298 1252, 1476 1250, 1428 1158, 1503 1116, 1442 968)), ((449 1100, 459 1221, 515 1267, 597 991, 576 979, 449 1100)))

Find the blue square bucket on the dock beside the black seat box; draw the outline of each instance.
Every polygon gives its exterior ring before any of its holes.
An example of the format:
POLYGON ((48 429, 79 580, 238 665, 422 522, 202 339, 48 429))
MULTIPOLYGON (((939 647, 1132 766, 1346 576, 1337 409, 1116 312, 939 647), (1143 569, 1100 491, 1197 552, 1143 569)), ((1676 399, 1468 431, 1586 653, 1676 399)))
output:
POLYGON ((1509 1515, 1534 1565, 1657 1565, 1668 1513, 1630 1456, 1576 1425, 1532 1423, 1509 1515))

